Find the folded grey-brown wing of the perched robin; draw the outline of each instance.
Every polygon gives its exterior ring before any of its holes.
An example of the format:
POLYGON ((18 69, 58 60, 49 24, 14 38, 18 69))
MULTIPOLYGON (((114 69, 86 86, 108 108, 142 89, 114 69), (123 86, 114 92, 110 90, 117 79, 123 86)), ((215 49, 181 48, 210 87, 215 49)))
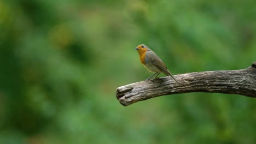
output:
POLYGON ((160 59, 158 55, 155 54, 155 52, 148 51, 146 57, 148 61, 152 62, 156 67, 161 69, 163 73, 165 73, 166 75, 170 75, 170 72, 167 70, 166 65, 164 64, 164 62, 162 62, 162 59, 160 59))

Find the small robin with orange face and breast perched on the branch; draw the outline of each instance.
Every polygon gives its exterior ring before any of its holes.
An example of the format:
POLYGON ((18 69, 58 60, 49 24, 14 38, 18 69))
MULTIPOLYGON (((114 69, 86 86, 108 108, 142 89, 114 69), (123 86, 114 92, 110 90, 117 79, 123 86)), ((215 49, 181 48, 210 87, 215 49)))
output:
POLYGON ((152 76, 150 76, 147 80, 150 80, 151 77, 153 77, 154 75, 156 75, 156 78, 160 73, 164 73, 167 76, 171 76, 172 79, 178 83, 178 85, 181 85, 167 69, 164 62, 162 62, 158 55, 156 55, 154 51, 150 50, 148 46, 141 44, 138 45, 135 49, 138 51, 139 59, 141 60, 141 63, 144 65, 144 67, 148 69, 150 72, 155 73, 152 76))

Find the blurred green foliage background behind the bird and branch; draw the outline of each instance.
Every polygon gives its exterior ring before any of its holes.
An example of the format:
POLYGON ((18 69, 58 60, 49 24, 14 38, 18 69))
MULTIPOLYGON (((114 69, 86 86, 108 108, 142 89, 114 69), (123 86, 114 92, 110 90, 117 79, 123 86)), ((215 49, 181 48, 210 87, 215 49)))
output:
MULTIPOLYGON (((186 93, 124 107, 146 44, 171 73, 249 67, 255 1, 0 1, 0 143, 256 143, 256 99, 186 93)), ((160 75, 165 76, 165 75, 160 75)))

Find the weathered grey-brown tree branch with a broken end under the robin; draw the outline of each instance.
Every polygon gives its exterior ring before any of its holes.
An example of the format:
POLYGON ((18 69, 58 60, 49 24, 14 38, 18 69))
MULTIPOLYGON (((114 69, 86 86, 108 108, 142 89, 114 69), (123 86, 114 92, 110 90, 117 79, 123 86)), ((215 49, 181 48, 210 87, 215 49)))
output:
POLYGON ((256 62, 247 69, 202 71, 178 74, 175 78, 181 86, 171 77, 161 77, 118 87, 116 97, 124 106, 161 95, 190 92, 240 94, 256 98, 256 62))

